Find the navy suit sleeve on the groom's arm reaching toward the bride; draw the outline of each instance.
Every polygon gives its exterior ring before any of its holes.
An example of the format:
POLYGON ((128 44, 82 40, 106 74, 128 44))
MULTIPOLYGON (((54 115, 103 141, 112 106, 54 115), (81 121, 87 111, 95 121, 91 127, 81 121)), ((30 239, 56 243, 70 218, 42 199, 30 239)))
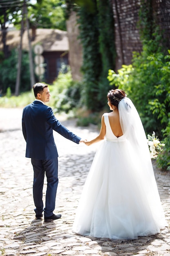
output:
POLYGON ((60 121, 56 119, 55 115, 53 114, 53 110, 50 107, 46 110, 46 121, 49 126, 51 126, 51 128, 58 132, 60 135, 79 144, 81 138, 63 126, 60 121))

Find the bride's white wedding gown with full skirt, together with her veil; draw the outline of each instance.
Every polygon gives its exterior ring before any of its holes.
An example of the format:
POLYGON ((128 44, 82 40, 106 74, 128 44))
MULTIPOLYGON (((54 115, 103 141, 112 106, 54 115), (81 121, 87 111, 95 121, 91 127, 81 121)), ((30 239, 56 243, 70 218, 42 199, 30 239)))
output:
POLYGON ((73 224, 77 234, 136 239, 166 225, 144 128, 127 97, 119 103, 119 116, 123 135, 117 138, 104 114, 106 139, 84 184, 73 224))

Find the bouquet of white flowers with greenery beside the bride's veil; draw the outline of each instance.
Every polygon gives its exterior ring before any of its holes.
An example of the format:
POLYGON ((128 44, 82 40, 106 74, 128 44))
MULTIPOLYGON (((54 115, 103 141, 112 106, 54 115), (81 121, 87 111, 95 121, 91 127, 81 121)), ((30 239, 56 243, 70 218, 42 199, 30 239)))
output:
POLYGON ((163 150, 162 147, 165 146, 165 144, 161 143, 157 137, 155 137, 155 132, 152 133, 152 136, 148 134, 148 146, 150 151, 150 157, 155 159, 158 154, 163 150))

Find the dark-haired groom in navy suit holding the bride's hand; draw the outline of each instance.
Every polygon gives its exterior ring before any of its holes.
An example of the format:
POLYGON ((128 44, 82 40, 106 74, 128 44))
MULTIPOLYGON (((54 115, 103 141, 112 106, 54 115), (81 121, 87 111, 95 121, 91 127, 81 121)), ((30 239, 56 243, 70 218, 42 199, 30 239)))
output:
POLYGON ((33 165, 33 200, 35 204, 35 218, 50 222, 61 218, 55 215, 55 197, 58 185, 58 153, 55 145, 53 130, 66 139, 79 144, 84 142, 80 137, 64 127, 54 116, 52 109, 45 103, 50 100, 48 85, 35 83, 33 85, 35 101, 23 109, 22 132, 26 141, 26 157, 31 158, 33 165), (42 189, 44 175, 47 178, 45 208, 43 209, 42 189))

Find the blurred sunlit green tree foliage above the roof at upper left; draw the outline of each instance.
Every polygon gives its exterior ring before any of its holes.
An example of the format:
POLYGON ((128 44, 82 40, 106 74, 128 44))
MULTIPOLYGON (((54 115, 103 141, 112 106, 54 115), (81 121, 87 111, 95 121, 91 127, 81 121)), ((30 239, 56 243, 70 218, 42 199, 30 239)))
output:
POLYGON ((0 1, 0 25, 2 29, 2 42, 4 58, 9 56, 6 44, 7 29, 10 24, 20 29, 23 4, 26 2, 30 26, 41 28, 55 28, 66 30, 64 0, 37 0, 32 4, 31 0, 1 0, 0 1))

